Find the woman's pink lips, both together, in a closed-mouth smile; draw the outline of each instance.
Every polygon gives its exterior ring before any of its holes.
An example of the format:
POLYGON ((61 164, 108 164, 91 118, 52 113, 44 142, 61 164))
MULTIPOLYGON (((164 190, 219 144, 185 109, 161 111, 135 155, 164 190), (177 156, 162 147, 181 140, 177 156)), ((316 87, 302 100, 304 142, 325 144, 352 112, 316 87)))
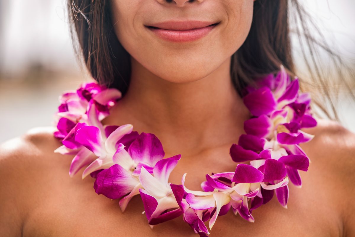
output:
POLYGON ((206 36, 217 24, 207 21, 166 21, 147 27, 167 41, 190 42, 206 36))

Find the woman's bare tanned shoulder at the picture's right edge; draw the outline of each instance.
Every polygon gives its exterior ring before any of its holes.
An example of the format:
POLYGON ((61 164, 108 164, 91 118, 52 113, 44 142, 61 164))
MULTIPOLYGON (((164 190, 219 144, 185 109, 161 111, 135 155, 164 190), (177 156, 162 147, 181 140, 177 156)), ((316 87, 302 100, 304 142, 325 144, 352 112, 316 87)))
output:
POLYGON ((340 209, 344 236, 355 236, 355 134, 338 122, 323 119, 317 122, 315 128, 304 129, 315 137, 301 147, 311 163, 322 169, 322 179, 329 187, 323 192, 333 195, 334 205, 340 209))

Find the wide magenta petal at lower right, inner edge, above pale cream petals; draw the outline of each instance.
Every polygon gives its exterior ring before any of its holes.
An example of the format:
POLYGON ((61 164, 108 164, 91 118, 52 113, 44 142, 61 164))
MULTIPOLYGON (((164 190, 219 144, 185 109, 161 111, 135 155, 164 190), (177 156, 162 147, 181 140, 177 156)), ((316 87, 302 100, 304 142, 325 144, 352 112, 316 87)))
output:
POLYGON ((263 179, 264 175, 258 169, 251 165, 238 164, 232 181, 236 183, 258 183, 262 182, 263 179))

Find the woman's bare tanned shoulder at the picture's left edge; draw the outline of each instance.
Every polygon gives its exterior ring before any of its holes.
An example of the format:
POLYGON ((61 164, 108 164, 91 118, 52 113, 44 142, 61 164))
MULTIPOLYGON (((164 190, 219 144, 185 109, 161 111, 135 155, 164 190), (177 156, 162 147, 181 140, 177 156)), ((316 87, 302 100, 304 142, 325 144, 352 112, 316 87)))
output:
POLYGON ((50 168, 60 142, 54 128, 35 128, 0 145, 0 232, 20 236, 33 205, 36 181, 50 168))

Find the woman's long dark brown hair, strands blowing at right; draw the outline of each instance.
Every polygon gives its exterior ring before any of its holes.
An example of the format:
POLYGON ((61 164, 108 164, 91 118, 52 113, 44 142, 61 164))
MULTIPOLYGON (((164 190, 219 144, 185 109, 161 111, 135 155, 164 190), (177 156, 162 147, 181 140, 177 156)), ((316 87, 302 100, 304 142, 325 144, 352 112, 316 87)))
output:
MULTIPOLYGON (((118 88, 125 95, 131 76, 130 54, 122 47, 113 31, 110 1, 68 0, 67 4, 72 38, 77 39, 80 45, 77 54, 82 56, 87 69, 96 81, 101 85, 118 88)), ((297 0, 255 1, 249 35, 231 58, 231 78, 236 90, 242 95, 245 86, 253 84, 262 76, 277 72, 280 64, 284 65, 291 76, 295 76, 290 37, 290 21, 293 20, 294 33, 300 40, 303 60, 307 65, 311 82, 323 92, 331 104, 333 117, 338 119, 329 92, 328 78, 322 74, 321 65, 316 60, 316 48, 324 49, 333 59, 340 79, 343 74, 339 68, 343 63, 324 40, 316 40, 316 37, 310 34, 307 24, 312 21, 307 20, 309 17, 297 0)), ((320 31, 315 33, 321 35, 320 31)), ((306 80, 302 81, 301 86, 312 84, 307 81, 308 83, 306 80)), ((327 109, 322 106, 324 101, 319 103, 316 98, 313 99, 313 103, 331 117, 327 109)))

